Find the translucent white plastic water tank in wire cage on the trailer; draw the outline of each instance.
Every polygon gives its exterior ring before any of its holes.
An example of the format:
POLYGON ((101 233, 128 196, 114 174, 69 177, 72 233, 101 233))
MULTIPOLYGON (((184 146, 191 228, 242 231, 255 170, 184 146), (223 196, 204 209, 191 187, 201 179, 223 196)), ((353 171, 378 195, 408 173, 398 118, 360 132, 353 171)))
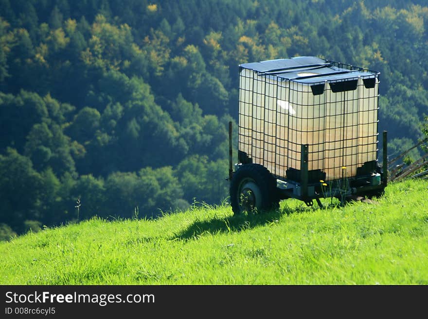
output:
POLYGON ((239 66, 239 151, 294 179, 357 176, 377 161, 379 72, 313 56, 239 66))

